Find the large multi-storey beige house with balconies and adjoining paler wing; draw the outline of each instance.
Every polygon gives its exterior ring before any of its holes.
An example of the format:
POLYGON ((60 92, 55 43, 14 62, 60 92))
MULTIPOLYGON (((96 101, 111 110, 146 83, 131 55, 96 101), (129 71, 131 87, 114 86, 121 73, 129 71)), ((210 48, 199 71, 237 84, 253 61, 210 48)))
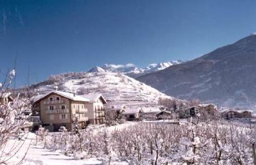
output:
POLYGON ((63 91, 50 91, 34 97, 33 116, 39 115, 42 125, 51 131, 58 131, 61 126, 72 129, 77 118, 79 125, 100 124, 104 122, 106 100, 100 94, 76 95, 63 91))

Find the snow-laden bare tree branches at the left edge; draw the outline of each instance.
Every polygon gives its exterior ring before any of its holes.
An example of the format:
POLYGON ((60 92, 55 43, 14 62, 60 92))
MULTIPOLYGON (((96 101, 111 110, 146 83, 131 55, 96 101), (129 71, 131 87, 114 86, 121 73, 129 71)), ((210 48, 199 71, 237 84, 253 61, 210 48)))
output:
MULTIPOLYGON (((24 111, 30 108, 30 104, 28 98, 21 97, 19 93, 13 95, 12 101, 8 98, 10 87, 15 81, 15 70, 10 70, 7 73, 0 71, 0 73, 4 77, 3 83, 0 83, 0 98, 3 99, 0 103, 0 164, 8 164, 8 161, 17 155, 24 145, 24 139, 28 136, 28 134, 21 134, 20 131, 24 129, 24 122, 26 122, 24 111), (19 143, 11 145, 13 138, 18 138, 19 143)), ((20 162, 24 157, 20 159, 20 162)))

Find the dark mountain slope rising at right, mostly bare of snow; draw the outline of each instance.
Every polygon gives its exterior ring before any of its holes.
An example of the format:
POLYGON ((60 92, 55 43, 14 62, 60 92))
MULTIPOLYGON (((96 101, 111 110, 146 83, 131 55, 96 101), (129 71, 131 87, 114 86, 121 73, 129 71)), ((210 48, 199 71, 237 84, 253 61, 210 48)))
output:
POLYGON ((204 56, 138 77, 167 95, 221 106, 256 105, 256 35, 204 56))

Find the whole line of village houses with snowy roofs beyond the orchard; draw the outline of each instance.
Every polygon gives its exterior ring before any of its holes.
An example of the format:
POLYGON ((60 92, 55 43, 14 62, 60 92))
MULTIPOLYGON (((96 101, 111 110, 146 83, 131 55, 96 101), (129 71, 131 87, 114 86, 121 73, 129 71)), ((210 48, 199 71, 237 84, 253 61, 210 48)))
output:
MULTIPOLYGON (((3 93, 0 97, 0 105, 12 102, 11 93, 3 93)), ((77 95, 58 91, 49 91, 44 95, 36 95, 31 98, 30 116, 39 119, 40 125, 50 131, 58 131, 61 126, 71 130, 74 121, 81 127, 88 124, 102 124, 105 122, 106 109, 117 116, 122 116, 128 121, 138 121, 141 118, 148 120, 164 120, 177 118, 200 117, 204 114, 220 114, 225 119, 252 118, 252 111, 232 109, 219 109, 214 104, 199 104, 193 107, 179 107, 166 109, 164 107, 138 107, 115 105, 107 101, 98 93, 77 95)))

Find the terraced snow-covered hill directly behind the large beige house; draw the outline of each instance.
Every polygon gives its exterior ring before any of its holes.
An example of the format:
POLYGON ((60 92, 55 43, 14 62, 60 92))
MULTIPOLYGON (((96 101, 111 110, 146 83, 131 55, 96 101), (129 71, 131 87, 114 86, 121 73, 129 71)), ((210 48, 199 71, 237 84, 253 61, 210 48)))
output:
POLYGON ((76 91, 80 95, 102 93, 107 100, 115 104, 133 106, 156 106, 160 97, 172 98, 127 75, 115 72, 70 72, 52 75, 46 81, 31 87, 40 93, 46 93, 54 86, 58 86, 61 91, 76 91))

